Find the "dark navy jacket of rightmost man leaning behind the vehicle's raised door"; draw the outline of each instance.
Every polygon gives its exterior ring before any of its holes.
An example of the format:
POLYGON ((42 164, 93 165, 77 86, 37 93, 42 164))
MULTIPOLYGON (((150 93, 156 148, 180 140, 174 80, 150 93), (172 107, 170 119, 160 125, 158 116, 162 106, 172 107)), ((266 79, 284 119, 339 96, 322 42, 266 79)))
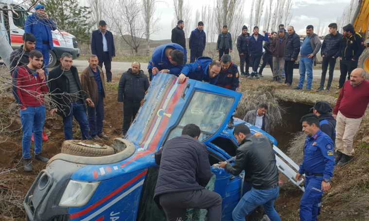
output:
POLYGON ((217 86, 236 91, 239 86, 239 74, 237 64, 231 63, 228 70, 220 70, 217 86))

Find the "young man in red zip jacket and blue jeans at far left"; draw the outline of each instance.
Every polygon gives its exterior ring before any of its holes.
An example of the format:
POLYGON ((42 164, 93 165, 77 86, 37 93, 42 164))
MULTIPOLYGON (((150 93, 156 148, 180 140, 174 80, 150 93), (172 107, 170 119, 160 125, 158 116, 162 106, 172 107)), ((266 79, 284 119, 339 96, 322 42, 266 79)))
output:
POLYGON ((44 94, 49 92, 42 70, 43 55, 38 50, 30 52, 30 63, 17 67, 13 72, 13 95, 19 105, 22 124, 23 169, 32 171, 31 137, 34 132, 34 158, 42 162, 49 159, 41 156, 42 128, 45 123, 44 94))

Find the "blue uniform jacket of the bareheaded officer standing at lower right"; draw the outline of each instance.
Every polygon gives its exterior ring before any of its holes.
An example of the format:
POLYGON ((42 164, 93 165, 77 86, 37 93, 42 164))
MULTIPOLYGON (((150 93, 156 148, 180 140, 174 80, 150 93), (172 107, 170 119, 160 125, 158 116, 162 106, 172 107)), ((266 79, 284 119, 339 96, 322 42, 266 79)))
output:
POLYGON ((303 161, 299 174, 322 173, 323 179, 333 177, 335 150, 332 139, 320 129, 314 136, 306 136, 303 161))

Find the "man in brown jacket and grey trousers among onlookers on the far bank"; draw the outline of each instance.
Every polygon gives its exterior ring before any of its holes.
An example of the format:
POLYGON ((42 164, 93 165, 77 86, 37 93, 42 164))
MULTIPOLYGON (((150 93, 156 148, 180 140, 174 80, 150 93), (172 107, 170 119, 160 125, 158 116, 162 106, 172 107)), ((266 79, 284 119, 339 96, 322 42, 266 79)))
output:
POLYGON ((279 36, 273 38, 270 44, 270 51, 273 53, 273 79, 270 81, 277 81, 282 83, 282 72, 285 66, 285 60, 283 59, 283 54, 285 53, 285 41, 287 36, 285 35, 285 29, 279 28, 279 36), (279 66, 279 71, 277 68, 279 66))

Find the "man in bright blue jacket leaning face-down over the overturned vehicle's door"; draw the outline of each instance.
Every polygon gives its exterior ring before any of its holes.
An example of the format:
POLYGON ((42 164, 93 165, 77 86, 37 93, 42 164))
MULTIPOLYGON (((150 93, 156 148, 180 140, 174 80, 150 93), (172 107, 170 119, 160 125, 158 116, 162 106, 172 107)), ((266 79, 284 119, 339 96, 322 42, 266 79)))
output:
POLYGON ((185 65, 178 77, 178 83, 183 83, 186 78, 189 78, 216 84, 220 66, 219 61, 213 61, 209 57, 200 57, 195 63, 185 65))

